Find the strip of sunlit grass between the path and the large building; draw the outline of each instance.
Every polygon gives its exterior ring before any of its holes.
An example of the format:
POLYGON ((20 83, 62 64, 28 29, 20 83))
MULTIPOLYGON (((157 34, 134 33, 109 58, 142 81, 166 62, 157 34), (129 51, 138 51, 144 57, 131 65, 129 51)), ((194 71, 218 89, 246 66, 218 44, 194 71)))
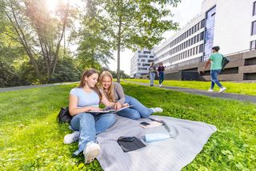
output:
MULTIPOLYGON (((150 84, 150 80, 146 79, 126 79, 130 82, 143 82, 150 84)), ((242 83, 242 82, 221 82, 225 86, 226 93, 238 93, 256 96, 256 83, 242 83)), ((158 80, 154 81, 155 85, 158 85, 158 80)), ((178 86, 190 89, 210 89, 210 82, 196 82, 196 81, 174 81, 174 80, 165 80, 162 85, 178 86)), ((215 91, 218 91, 218 85, 214 87, 215 91)))

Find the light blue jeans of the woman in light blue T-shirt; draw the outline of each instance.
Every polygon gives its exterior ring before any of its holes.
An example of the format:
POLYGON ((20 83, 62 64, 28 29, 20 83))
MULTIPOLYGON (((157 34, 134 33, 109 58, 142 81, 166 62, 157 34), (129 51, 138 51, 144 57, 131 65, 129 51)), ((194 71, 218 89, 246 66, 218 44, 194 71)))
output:
POLYGON ((115 117, 113 113, 104 113, 94 115, 91 113, 79 113, 70 121, 71 128, 79 131, 78 150, 74 155, 78 155, 85 149, 88 142, 96 141, 96 134, 102 133, 114 124, 115 117))

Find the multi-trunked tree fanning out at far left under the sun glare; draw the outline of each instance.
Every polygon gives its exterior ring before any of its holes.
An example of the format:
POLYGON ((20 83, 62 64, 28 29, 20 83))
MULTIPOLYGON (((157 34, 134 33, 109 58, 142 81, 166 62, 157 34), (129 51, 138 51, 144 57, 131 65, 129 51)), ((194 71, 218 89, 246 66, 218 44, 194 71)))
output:
POLYGON ((2 33, 19 42, 40 82, 48 82, 58 62, 59 48, 68 22, 69 3, 47 10, 43 0, 3 0, 2 33), (43 66, 43 67, 40 67, 43 66))

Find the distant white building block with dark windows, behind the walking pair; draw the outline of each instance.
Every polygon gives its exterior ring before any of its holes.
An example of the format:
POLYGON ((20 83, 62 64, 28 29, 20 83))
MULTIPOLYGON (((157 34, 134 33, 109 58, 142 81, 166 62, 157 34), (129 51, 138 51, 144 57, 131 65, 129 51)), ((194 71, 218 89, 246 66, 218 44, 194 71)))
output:
POLYGON ((154 62, 152 50, 138 50, 130 60, 130 77, 139 78, 149 73, 150 62, 154 62))

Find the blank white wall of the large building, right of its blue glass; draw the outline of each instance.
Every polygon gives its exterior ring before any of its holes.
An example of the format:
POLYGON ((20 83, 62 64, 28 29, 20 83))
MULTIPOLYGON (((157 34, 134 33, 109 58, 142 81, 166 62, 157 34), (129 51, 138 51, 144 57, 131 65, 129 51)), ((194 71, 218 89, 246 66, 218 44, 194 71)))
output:
POLYGON ((214 46, 222 54, 250 49, 252 0, 217 0, 214 46))

